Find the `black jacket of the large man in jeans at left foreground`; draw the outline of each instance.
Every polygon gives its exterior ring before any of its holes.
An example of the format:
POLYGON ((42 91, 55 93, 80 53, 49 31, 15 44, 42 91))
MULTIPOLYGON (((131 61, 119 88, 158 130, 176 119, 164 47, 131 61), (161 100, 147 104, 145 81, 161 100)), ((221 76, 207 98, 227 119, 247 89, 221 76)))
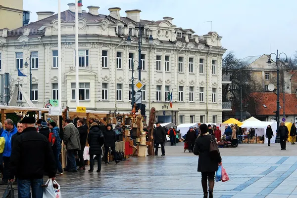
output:
POLYGON ((56 162, 49 140, 35 127, 23 130, 13 143, 9 169, 10 178, 42 179, 44 172, 55 177, 56 162))

